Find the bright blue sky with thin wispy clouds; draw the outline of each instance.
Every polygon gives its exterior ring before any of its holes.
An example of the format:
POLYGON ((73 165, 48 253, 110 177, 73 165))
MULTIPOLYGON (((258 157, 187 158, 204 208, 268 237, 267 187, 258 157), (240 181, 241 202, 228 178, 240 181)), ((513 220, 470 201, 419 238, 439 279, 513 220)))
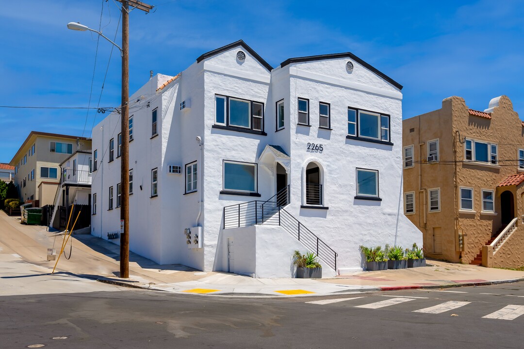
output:
MULTIPOLYGON (((520 0, 146 2, 154 12, 130 15, 132 93, 150 70, 175 75, 202 53, 243 39, 272 66, 291 57, 352 52, 404 86, 404 118, 438 109, 453 95, 477 110, 507 95, 524 117, 520 0)), ((119 105, 119 52, 110 60, 110 43, 68 30, 70 21, 100 27, 110 38, 116 33, 121 42, 113 0, 24 0, 4 7, 0 105, 119 105)), ((0 162, 9 162, 32 130, 90 137, 104 116, 85 109, 0 108, 0 162)))

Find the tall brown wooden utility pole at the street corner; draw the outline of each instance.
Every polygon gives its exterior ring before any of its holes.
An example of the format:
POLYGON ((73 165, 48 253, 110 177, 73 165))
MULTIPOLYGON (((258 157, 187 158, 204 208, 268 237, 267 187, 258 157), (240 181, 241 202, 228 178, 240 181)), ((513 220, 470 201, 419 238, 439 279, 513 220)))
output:
POLYGON ((117 0, 122 3, 122 156, 120 163, 122 202, 120 207, 120 277, 129 277, 129 5, 149 13, 153 8, 138 0, 117 0), (124 231, 122 231, 122 225, 124 231))

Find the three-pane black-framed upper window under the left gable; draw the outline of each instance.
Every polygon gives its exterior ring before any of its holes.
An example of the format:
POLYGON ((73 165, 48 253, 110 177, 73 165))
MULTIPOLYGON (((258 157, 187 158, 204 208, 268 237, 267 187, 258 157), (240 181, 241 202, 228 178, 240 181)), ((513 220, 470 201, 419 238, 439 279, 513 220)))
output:
POLYGON ((263 132, 264 104, 215 95, 215 125, 263 132))

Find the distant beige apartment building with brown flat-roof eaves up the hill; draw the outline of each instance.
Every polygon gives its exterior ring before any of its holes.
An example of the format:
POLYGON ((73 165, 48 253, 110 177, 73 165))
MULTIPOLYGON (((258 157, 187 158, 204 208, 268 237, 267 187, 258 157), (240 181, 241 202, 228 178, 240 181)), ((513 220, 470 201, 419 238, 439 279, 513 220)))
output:
POLYGON ((54 204, 60 182, 60 163, 76 151, 91 152, 91 139, 31 131, 9 162, 15 166, 15 185, 21 200, 36 206, 54 204))

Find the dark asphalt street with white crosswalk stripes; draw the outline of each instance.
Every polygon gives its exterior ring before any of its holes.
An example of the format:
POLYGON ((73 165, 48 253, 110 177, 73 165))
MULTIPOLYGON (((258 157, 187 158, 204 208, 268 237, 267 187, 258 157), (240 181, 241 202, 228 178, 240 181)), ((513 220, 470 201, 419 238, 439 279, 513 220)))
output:
POLYGON ((0 347, 522 348, 524 283, 295 298, 0 297, 0 347))

